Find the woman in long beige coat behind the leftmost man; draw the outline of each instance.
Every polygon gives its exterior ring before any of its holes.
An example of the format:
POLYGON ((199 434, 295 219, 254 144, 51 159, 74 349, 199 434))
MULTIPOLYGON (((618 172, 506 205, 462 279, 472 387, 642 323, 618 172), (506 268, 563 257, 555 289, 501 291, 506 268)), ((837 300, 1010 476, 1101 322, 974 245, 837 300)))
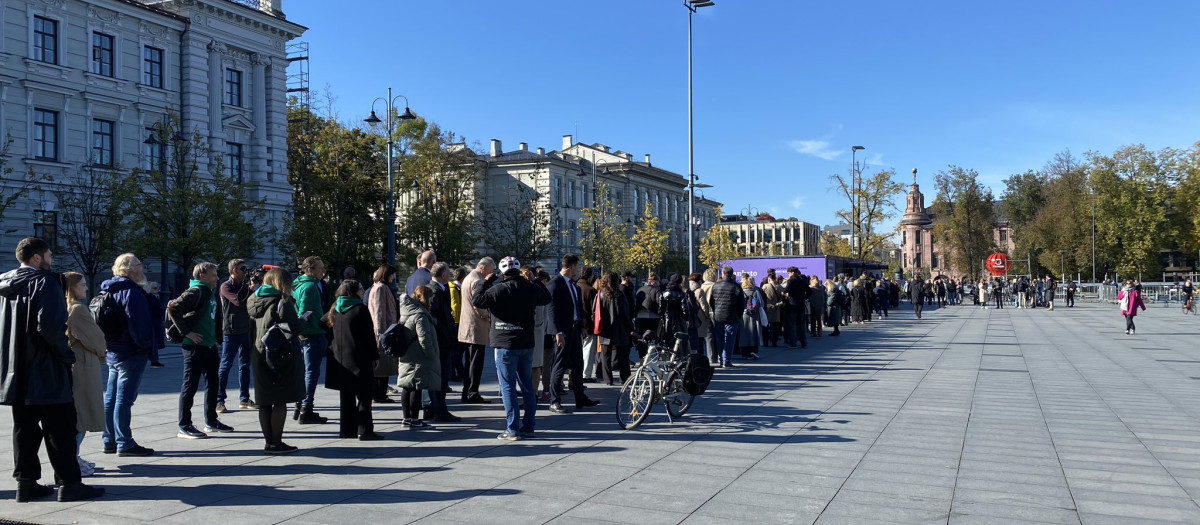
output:
POLYGON ((72 392, 76 400, 76 460, 79 473, 91 476, 96 464, 79 457, 79 446, 88 432, 104 432, 104 384, 101 380, 104 364, 104 332, 88 309, 88 280, 82 273, 62 274, 62 289, 67 291, 67 342, 74 351, 71 366, 72 392))

